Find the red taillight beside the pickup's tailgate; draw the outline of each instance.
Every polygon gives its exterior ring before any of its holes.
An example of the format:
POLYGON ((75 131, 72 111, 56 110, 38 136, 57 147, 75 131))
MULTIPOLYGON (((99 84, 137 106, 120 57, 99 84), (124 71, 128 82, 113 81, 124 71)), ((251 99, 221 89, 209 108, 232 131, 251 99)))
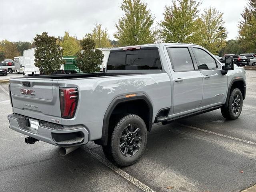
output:
POLYGON ((60 111, 62 118, 73 118, 76 112, 77 103, 77 88, 60 88, 60 111))

